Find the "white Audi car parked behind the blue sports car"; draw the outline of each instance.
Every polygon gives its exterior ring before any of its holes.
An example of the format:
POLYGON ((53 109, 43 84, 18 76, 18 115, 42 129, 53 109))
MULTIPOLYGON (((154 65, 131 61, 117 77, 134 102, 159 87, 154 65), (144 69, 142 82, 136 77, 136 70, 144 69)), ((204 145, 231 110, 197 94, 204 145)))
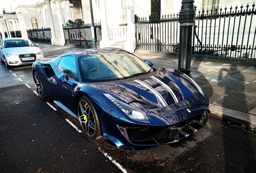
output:
POLYGON ((33 64, 35 60, 44 58, 43 51, 27 38, 4 38, 0 43, 1 62, 10 66, 33 64))

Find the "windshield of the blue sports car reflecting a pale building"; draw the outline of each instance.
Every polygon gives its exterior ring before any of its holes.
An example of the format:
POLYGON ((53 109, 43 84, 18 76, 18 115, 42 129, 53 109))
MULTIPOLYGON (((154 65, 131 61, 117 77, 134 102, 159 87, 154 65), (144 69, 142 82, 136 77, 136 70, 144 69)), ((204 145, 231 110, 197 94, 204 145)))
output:
POLYGON ((145 62, 126 52, 97 52, 78 59, 83 82, 102 82, 147 74, 145 62))

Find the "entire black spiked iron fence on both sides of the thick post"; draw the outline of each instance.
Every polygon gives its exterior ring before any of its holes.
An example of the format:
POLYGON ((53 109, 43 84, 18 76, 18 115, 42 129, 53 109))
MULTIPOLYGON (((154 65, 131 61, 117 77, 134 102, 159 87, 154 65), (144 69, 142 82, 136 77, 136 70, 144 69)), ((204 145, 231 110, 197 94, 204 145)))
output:
MULTIPOLYGON (((192 42, 193 54, 256 58, 256 15, 249 5, 227 10, 198 12, 192 42)), ((195 7, 196 8, 196 7, 195 7)), ((136 49, 179 52, 178 14, 148 22, 136 22, 136 49)))

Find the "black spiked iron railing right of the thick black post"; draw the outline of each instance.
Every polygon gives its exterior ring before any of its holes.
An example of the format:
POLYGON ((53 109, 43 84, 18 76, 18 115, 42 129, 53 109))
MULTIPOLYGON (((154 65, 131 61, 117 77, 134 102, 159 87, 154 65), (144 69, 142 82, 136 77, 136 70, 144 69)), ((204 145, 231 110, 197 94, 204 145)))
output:
POLYGON ((198 12, 194 29, 195 54, 256 58, 256 11, 249 5, 198 12), (196 34, 199 39, 196 39, 196 34))

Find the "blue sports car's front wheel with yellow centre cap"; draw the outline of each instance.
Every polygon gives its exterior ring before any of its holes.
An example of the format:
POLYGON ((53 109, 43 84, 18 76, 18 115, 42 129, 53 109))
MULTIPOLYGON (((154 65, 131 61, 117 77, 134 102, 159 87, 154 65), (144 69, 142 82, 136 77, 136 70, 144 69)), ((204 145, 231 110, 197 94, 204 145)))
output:
POLYGON ((101 127, 99 118, 91 101, 82 96, 77 105, 78 118, 83 130, 90 139, 100 139, 101 127))

